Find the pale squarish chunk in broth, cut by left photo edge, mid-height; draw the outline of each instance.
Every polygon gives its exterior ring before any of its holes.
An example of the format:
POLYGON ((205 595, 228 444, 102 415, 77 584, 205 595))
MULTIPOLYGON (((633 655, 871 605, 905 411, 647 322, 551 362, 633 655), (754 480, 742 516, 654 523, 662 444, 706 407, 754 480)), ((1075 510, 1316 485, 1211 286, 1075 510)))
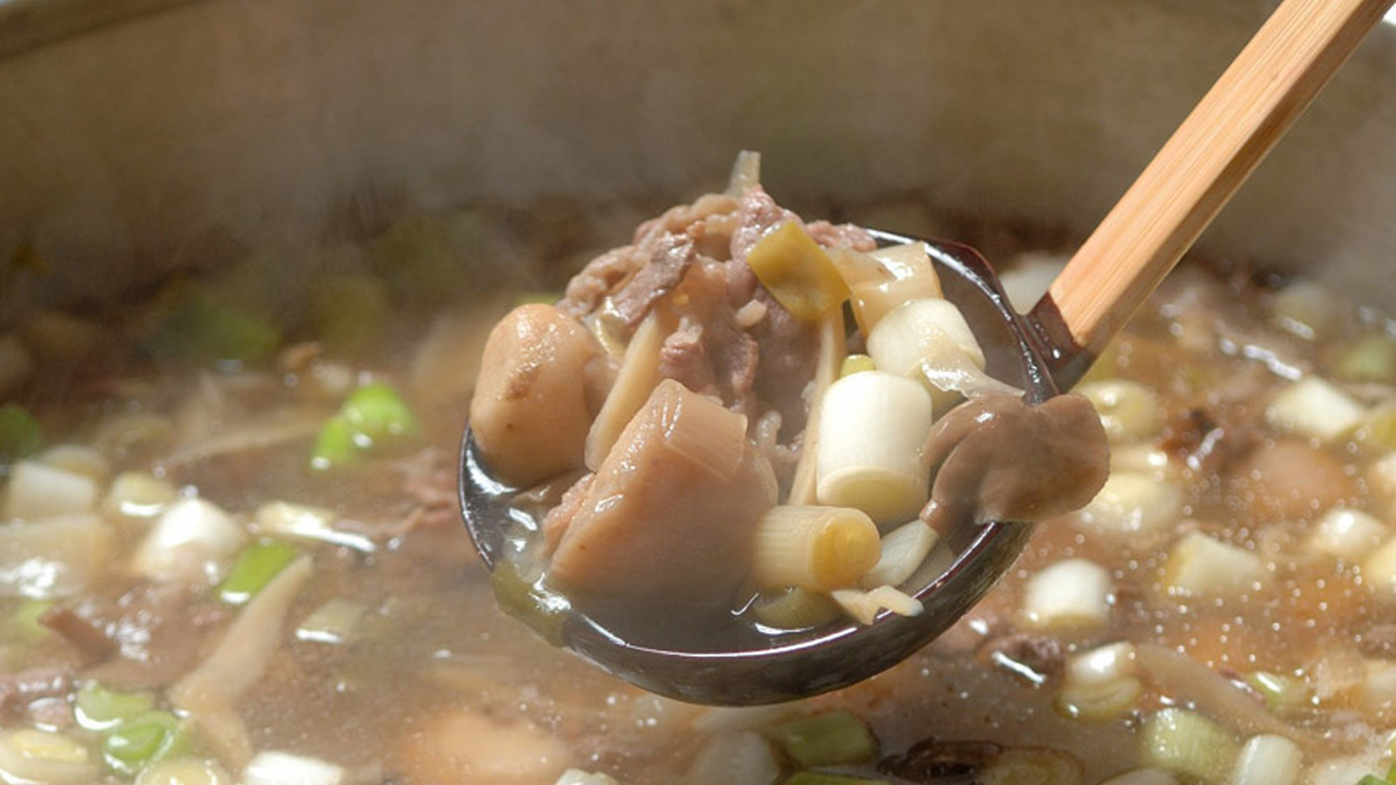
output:
POLYGON ((0 524, 0 596, 75 596, 106 570, 112 531, 101 517, 0 524))

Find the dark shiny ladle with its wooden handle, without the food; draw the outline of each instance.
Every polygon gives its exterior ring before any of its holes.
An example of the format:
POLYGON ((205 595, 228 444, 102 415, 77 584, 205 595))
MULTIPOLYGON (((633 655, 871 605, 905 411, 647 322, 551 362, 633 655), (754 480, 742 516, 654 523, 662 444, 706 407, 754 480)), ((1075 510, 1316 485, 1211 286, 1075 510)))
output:
MULTIPOLYGON (((1128 321, 1322 89, 1393 0, 1284 0, 1182 126, 1085 242, 1047 295, 1019 316, 973 249, 874 232, 882 243, 924 242, 946 298, 993 346, 990 372, 1044 399, 1069 388, 1128 321)), ((469 430, 461 501, 475 546, 493 571, 532 525, 514 489, 482 468, 469 430)), ((782 636, 683 630, 673 619, 596 617, 560 608, 533 619, 550 640, 641 687, 674 698, 766 704, 835 690, 913 655, 965 615, 1022 550, 1030 525, 963 525, 949 564, 907 584, 920 616, 882 613, 782 636), (681 645, 674 645, 681 640, 681 645)), ((738 627, 729 620, 730 627, 738 627)))

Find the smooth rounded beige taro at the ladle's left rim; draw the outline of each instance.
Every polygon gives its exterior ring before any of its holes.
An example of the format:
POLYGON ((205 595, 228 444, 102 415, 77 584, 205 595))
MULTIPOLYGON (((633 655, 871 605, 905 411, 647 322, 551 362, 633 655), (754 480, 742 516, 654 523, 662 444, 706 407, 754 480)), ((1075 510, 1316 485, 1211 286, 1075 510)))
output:
POLYGON ((526 487, 584 465, 599 358, 591 332, 553 306, 521 306, 490 332, 470 429, 501 480, 526 487))

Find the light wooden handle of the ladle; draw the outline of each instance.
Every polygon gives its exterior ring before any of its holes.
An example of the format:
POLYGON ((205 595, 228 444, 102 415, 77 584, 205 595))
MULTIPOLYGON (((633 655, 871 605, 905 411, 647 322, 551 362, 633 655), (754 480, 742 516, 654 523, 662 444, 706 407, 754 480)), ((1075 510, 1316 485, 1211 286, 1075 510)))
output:
POLYGON ((1393 0, 1284 0, 1071 258, 1029 321, 1071 387, 1393 0))

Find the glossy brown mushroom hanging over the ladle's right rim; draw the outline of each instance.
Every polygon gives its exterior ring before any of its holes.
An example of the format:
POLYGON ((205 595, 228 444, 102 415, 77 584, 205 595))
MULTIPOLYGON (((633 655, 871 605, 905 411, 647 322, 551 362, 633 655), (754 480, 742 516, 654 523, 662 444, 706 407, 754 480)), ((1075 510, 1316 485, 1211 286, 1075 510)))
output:
POLYGON ((1018 395, 974 395, 935 422, 921 454, 935 474, 921 518, 938 531, 959 521, 1041 521, 1079 510, 1110 472, 1104 427, 1076 394, 1039 405, 1018 395))

